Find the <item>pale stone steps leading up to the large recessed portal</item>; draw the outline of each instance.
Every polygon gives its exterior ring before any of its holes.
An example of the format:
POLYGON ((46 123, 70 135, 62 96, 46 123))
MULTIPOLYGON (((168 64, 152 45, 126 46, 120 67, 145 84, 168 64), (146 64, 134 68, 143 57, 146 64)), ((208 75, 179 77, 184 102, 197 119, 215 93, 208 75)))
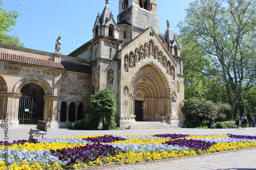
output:
POLYGON ((161 122, 135 122, 132 126, 129 126, 126 129, 173 129, 180 128, 176 126, 170 126, 167 123, 161 122))

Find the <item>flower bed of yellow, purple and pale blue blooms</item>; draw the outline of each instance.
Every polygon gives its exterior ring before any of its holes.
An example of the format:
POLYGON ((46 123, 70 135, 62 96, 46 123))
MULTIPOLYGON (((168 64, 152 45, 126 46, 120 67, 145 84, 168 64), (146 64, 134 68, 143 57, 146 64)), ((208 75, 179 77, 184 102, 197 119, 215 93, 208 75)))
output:
POLYGON ((0 169, 77 169, 256 147, 256 135, 103 135, 0 141, 0 169))

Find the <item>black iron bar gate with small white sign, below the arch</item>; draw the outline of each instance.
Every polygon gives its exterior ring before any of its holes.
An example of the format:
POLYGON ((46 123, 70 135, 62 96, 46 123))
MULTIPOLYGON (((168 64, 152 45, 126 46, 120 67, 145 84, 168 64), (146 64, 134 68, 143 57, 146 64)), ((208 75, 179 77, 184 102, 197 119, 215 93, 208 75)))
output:
POLYGON ((19 100, 18 120, 20 125, 36 125, 44 117, 44 96, 23 93, 19 100))

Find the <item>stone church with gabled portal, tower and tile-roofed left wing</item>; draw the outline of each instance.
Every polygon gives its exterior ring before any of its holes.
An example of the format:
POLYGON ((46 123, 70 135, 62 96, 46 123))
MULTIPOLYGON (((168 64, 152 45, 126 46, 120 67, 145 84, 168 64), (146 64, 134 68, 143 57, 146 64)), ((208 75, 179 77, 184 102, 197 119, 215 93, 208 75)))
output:
POLYGON ((1 126, 6 115, 10 128, 88 122, 91 94, 107 87, 121 129, 138 122, 183 127, 183 58, 168 20, 163 24, 160 36, 157 0, 119 0, 117 19, 106 0, 93 39, 67 56, 60 37, 55 53, 0 44, 1 126))

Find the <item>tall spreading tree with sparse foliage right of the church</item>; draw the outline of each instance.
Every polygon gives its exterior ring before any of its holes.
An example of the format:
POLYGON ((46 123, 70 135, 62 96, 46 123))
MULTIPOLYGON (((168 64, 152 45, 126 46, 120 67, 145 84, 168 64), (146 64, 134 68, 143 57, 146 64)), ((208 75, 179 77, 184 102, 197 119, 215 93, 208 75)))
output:
POLYGON ((183 53, 184 63, 191 61, 185 68, 220 80, 234 115, 244 113, 246 91, 255 85, 255 26, 255 0, 196 0, 178 25, 181 45, 190 50, 183 53))

